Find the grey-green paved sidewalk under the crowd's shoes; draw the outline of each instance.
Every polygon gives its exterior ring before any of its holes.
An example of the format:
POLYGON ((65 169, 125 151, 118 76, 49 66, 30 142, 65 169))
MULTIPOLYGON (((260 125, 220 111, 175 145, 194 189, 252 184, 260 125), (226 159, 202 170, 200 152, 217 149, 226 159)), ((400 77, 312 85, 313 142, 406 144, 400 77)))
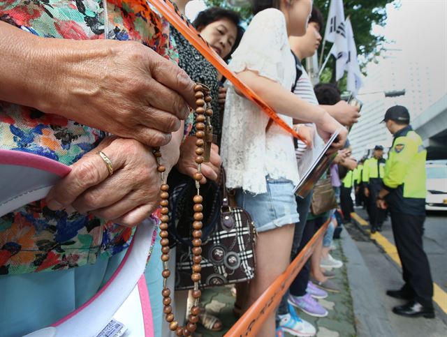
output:
MULTIPOLYGON (((349 234, 346 232, 342 235, 342 239, 334 240, 337 249, 332 250, 331 255, 344 261, 344 266, 340 269, 335 269, 335 281, 341 288, 342 292, 338 294, 329 293, 326 299, 319 300, 320 304, 328 309, 329 315, 327 317, 312 317, 306 313, 298 312, 298 315, 303 320, 307 320, 314 324, 317 328, 318 337, 348 337, 358 336, 356 332, 356 318, 353 313, 353 299, 351 297, 351 289, 349 285, 349 259, 344 253, 345 241, 350 240, 349 234)), ((349 250, 352 249, 348 248, 349 250)), ((194 336, 203 337, 217 337, 223 336, 225 332, 235 324, 236 319, 233 315, 233 304, 235 298, 231 295, 230 287, 219 287, 205 290, 203 292, 203 304, 205 308, 217 315, 223 322, 223 330, 212 332, 199 327, 194 336)), ((286 336, 291 336, 286 334, 286 336)), ((384 336, 384 335, 381 335, 384 336)), ((269 336, 270 337, 270 336, 269 336)))

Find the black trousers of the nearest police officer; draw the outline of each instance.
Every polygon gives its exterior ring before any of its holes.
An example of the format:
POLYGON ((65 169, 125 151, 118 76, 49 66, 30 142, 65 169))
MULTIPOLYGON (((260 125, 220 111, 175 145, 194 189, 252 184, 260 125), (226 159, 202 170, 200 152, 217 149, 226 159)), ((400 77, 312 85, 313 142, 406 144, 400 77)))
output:
POLYGON ((402 262, 402 291, 423 306, 433 306, 433 280, 430 264, 423 249, 425 216, 396 214, 390 210, 397 253, 402 262))

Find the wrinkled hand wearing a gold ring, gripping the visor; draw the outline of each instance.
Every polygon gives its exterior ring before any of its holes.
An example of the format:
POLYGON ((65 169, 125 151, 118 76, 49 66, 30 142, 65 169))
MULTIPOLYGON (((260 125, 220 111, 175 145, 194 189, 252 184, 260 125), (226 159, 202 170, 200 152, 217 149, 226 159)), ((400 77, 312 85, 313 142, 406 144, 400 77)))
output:
POLYGON ((121 225, 138 225, 158 206, 161 180, 156 167, 151 148, 136 140, 108 137, 50 190, 47 206, 52 210, 73 207, 121 225), (112 162, 110 177, 98 151, 112 162))

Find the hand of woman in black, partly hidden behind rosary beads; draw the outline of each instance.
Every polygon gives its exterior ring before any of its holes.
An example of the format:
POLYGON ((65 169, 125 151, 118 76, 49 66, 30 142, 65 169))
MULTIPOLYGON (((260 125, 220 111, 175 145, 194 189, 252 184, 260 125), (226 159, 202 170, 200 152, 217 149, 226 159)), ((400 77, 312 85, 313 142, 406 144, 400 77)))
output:
MULTIPOLYGON (((193 178, 197 172, 197 164, 194 162, 196 157, 196 137, 189 136, 180 147, 180 157, 177 163, 177 169, 180 173, 193 178)), ((202 164, 203 178, 200 184, 205 184, 207 179, 216 181, 219 178, 221 170, 221 156, 219 156, 219 147, 216 144, 211 145, 210 163, 202 164)))

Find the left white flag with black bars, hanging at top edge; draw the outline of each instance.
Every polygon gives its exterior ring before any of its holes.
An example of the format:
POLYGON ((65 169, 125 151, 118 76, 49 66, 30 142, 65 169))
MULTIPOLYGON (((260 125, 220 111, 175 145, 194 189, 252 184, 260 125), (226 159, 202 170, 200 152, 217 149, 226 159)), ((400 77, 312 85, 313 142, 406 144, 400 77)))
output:
POLYGON ((342 0, 331 0, 328 22, 326 23, 325 40, 334 43, 330 54, 336 61, 335 80, 343 77, 348 59, 348 41, 346 40, 346 27, 344 22, 344 9, 342 0))

